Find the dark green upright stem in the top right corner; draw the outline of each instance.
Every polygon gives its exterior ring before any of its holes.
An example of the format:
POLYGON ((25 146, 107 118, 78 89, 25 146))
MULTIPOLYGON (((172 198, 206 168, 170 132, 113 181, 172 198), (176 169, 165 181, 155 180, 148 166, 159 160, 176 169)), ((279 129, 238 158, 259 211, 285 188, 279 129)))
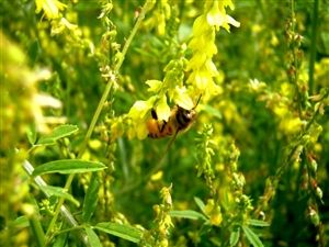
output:
POLYGON ((309 56, 309 69, 308 69, 308 87, 309 94, 314 93, 314 65, 316 59, 316 43, 318 31, 318 13, 319 13, 319 0, 314 1, 313 7, 313 22, 311 22, 311 36, 310 36, 310 56, 309 56))

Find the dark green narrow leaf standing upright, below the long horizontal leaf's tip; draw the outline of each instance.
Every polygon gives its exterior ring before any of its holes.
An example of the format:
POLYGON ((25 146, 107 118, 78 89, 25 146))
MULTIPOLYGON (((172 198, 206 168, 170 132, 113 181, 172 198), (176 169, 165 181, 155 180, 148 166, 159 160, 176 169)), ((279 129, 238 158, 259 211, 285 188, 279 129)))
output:
POLYGON ((97 173, 93 173, 84 197, 83 207, 82 207, 82 218, 84 222, 89 222, 93 215, 99 201, 99 188, 100 180, 97 173))

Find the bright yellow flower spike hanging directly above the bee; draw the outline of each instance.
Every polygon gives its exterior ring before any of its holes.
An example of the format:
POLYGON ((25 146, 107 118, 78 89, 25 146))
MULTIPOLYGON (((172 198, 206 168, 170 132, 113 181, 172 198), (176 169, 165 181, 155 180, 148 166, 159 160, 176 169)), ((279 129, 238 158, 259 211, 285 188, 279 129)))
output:
POLYGON ((230 25, 240 26, 239 22, 226 14, 227 7, 234 9, 231 0, 205 1, 204 12, 194 21, 193 37, 189 43, 193 55, 186 70, 191 71, 188 83, 197 92, 216 94, 219 90, 214 82, 214 77, 218 76, 213 61, 213 56, 217 53, 216 31, 223 27, 229 32, 230 25))

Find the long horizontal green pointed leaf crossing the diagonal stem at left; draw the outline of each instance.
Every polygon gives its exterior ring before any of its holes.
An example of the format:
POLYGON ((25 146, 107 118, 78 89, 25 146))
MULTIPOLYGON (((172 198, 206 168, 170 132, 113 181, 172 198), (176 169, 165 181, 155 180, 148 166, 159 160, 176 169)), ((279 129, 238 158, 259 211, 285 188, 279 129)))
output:
POLYGON ((61 159, 43 164, 36 167, 33 171, 33 176, 39 176, 44 173, 59 172, 67 173, 82 173, 105 169, 105 165, 97 161, 87 161, 81 159, 61 159))

